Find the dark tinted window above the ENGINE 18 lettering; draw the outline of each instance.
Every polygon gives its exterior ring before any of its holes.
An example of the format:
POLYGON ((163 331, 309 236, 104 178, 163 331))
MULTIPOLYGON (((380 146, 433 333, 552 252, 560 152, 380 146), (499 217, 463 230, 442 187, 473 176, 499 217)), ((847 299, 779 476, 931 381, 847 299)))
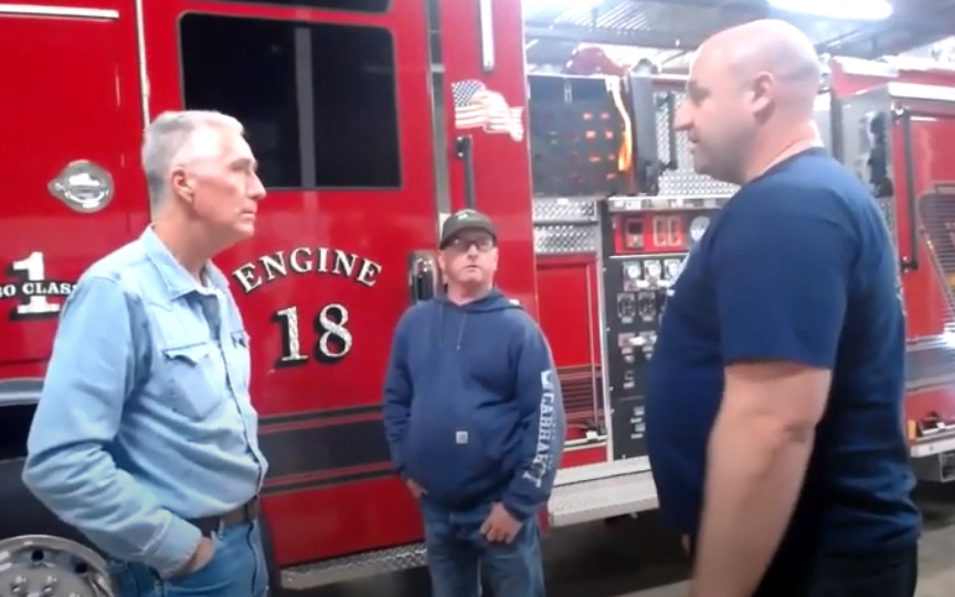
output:
POLYGON ((238 118, 267 188, 401 186, 388 30, 193 13, 180 43, 183 105, 238 118))

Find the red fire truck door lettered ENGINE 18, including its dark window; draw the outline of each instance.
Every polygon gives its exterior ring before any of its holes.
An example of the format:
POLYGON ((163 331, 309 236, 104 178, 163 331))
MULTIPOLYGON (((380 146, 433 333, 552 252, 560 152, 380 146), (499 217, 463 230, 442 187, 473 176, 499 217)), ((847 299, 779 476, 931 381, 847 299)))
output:
POLYGON ((268 191, 216 263, 252 338, 279 565, 414 542, 380 405, 395 324, 433 290, 410 276, 436 244, 425 3, 165 0, 145 22, 151 115, 238 118, 268 191))

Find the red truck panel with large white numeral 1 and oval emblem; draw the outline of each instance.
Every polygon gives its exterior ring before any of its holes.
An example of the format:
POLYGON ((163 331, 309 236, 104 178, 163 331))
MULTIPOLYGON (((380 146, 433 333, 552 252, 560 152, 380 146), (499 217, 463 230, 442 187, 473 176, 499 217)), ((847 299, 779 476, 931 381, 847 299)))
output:
POLYGON ((79 274, 130 237, 145 190, 135 23, 131 1, 0 4, 6 375, 42 376, 79 274))

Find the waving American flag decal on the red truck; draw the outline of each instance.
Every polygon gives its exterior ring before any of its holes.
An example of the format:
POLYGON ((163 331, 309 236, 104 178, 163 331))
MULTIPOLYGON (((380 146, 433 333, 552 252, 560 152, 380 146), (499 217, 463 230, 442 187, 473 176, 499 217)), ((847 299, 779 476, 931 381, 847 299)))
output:
POLYGON ((474 78, 452 83, 450 90, 455 128, 482 128, 490 134, 510 135, 514 141, 523 139, 523 108, 508 106, 501 94, 474 78))

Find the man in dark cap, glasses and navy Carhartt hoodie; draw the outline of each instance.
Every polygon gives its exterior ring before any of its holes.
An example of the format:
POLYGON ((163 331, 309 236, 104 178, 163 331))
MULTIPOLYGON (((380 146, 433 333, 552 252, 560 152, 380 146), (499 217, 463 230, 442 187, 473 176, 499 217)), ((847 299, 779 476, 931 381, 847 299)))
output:
POLYGON ((497 232, 463 210, 445 221, 446 291, 395 329, 384 425, 395 470, 418 500, 434 597, 543 597, 538 513, 564 444, 551 350, 494 288, 497 232))

